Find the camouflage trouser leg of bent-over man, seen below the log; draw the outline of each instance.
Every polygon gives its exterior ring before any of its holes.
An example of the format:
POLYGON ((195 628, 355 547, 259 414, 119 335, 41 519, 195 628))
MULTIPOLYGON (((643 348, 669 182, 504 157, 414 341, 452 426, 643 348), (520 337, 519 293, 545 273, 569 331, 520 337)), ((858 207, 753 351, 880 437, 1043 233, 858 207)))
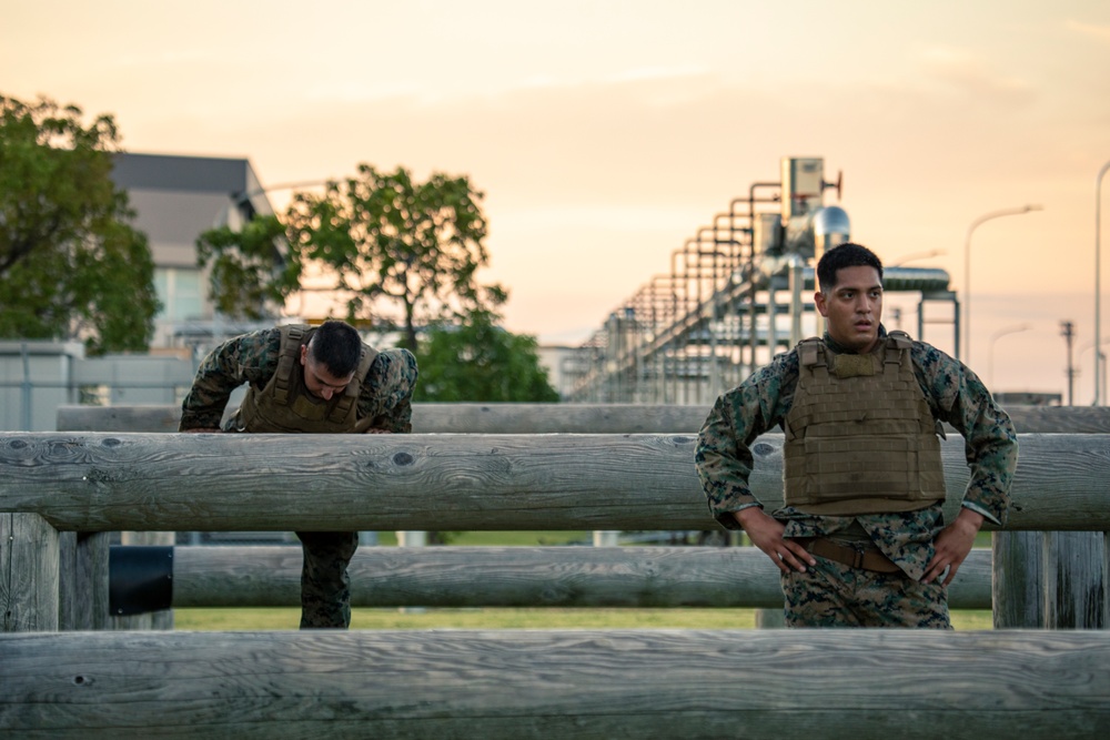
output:
POLYGON ((299 531, 301 629, 351 626, 351 576, 347 564, 359 547, 356 531, 299 531))

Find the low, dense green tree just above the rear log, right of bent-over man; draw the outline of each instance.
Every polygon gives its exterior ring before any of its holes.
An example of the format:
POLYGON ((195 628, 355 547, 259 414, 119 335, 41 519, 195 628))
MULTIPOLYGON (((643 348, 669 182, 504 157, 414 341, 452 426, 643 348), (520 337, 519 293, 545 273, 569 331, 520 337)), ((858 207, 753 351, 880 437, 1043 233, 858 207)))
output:
POLYGON ((460 325, 436 325, 416 351, 416 401, 556 402, 539 365, 536 339, 506 332, 480 312, 460 325))

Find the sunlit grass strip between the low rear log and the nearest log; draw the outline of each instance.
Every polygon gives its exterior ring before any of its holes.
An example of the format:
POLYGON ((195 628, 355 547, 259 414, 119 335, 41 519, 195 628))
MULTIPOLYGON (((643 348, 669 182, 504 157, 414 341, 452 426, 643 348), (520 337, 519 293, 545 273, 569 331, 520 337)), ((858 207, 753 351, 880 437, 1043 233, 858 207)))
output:
MULTIPOLYGON (((755 609, 354 609, 351 629, 754 629, 755 609)), ((174 609, 179 630, 296 629, 300 609, 174 609)), ((961 631, 991 629, 990 611, 953 611, 961 631)))

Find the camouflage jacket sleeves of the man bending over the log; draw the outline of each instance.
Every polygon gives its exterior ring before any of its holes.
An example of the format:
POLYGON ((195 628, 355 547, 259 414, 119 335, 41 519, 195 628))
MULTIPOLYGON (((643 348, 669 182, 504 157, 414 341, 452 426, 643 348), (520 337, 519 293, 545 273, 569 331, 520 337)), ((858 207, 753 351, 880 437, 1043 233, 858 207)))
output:
MULTIPOLYGON (((219 428, 232 391, 244 383, 262 391, 278 372, 280 348, 281 331, 268 328, 229 339, 210 352, 182 403, 178 428, 219 428)), ((359 394, 359 417, 374 418, 374 429, 412 432, 416 375, 416 358, 407 349, 380 352, 359 394)))

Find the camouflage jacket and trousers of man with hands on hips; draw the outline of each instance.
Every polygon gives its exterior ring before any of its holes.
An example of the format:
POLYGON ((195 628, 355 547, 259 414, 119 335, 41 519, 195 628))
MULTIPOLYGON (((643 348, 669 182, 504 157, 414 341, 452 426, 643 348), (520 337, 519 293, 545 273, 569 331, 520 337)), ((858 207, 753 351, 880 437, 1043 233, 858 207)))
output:
MULTIPOLYGON (((881 326, 879 336, 886 336, 881 326)), ((834 352, 846 352, 827 333, 824 342, 834 352)), ((1009 417, 975 373, 936 347, 914 342, 910 359, 934 417, 967 442, 971 479, 962 505, 996 525, 1005 524, 1017 465, 1017 435, 1009 417)), ((735 511, 761 506, 748 486, 750 445, 781 425, 797 383, 795 348, 717 398, 702 427, 695 465, 709 511, 727 529, 740 529, 735 511)), ((857 516, 816 516, 784 507, 773 516, 785 524, 784 537, 826 537, 854 549, 877 548, 900 568, 881 574, 817 558, 818 566, 806 572, 784 574, 788 626, 949 627, 946 589, 937 582, 920 584, 934 539, 945 527, 940 504, 857 516)))

